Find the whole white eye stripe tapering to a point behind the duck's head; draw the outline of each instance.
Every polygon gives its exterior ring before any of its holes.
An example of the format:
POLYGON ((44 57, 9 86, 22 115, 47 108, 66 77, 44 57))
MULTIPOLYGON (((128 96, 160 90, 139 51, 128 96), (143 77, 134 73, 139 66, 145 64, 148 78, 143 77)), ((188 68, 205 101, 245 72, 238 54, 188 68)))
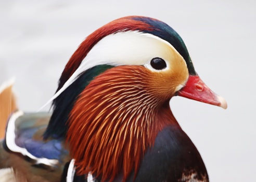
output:
POLYGON ((76 69, 63 87, 43 107, 56 99, 81 73, 96 65, 145 65, 151 71, 155 71, 155 69, 150 67, 149 62, 151 59, 159 57, 167 62, 168 69, 171 66, 171 60, 174 59, 173 52, 182 58, 180 53, 168 41, 152 34, 138 31, 110 34, 101 39, 88 52, 78 69, 76 69))

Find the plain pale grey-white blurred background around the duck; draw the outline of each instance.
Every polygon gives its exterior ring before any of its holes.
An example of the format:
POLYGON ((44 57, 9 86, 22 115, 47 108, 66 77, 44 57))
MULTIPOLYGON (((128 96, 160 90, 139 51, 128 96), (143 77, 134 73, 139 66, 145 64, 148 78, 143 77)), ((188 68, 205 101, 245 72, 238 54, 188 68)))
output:
POLYGON ((256 1, 0 0, 0 83, 15 76, 20 109, 36 111, 54 94, 82 40, 129 15, 172 26, 202 80, 227 100, 227 110, 182 97, 171 101, 210 180, 255 180, 256 1))

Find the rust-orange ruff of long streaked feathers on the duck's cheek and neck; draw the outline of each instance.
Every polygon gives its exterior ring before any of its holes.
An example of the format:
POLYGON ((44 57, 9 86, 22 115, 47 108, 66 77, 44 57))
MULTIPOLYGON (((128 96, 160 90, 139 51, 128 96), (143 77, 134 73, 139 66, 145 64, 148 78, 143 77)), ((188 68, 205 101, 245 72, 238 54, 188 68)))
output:
POLYGON ((124 181, 133 170, 136 175, 158 132, 170 124, 177 122, 169 102, 150 91, 146 68, 118 66, 81 92, 69 116, 67 141, 79 174, 111 181, 121 172, 124 181))

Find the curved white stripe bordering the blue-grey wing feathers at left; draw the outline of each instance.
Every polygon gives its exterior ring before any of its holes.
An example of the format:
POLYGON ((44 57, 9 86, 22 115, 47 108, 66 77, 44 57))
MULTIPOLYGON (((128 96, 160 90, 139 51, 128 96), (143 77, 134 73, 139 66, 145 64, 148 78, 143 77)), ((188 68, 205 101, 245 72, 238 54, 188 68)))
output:
POLYGON ((23 115, 23 112, 18 110, 16 113, 12 114, 9 122, 7 124, 7 130, 6 130, 6 145, 7 147, 14 152, 19 152, 23 156, 28 156, 29 158, 36 161, 36 164, 45 164, 48 166, 53 166, 58 163, 58 160, 56 159, 46 159, 46 158, 37 158, 33 156, 31 153, 28 152, 27 149, 21 148, 15 144, 15 121, 17 118, 23 115))

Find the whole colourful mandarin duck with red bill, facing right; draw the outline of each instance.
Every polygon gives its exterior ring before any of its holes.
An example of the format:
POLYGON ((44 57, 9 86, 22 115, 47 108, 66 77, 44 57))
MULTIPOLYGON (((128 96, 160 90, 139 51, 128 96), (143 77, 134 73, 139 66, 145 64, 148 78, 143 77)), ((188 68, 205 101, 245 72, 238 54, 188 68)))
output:
POLYGON ((52 113, 6 112, 12 114, 0 169, 31 182, 207 182, 197 148, 170 109, 175 95, 227 107, 169 25, 138 16, 114 20, 70 58, 49 101, 52 113))

